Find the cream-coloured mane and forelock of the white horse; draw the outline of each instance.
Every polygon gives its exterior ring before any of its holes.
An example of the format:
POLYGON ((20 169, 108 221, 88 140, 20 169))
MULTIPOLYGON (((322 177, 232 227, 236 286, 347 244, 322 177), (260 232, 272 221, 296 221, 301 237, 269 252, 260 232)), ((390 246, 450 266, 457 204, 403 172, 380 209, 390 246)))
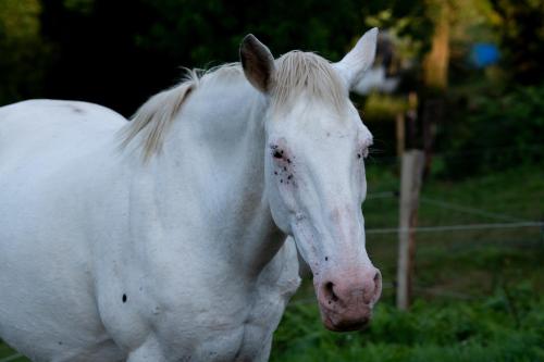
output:
MULTIPOLYGON (((287 108, 300 93, 306 92, 342 112, 347 93, 329 61, 311 52, 290 51, 280 57, 275 66, 271 95, 274 110, 287 108)), ((144 159, 148 160, 161 149, 175 115, 193 91, 208 80, 228 82, 243 74, 239 63, 223 64, 206 72, 187 70, 180 84, 152 96, 136 111, 131 123, 121 132, 121 146, 126 147, 141 134, 144 159)))

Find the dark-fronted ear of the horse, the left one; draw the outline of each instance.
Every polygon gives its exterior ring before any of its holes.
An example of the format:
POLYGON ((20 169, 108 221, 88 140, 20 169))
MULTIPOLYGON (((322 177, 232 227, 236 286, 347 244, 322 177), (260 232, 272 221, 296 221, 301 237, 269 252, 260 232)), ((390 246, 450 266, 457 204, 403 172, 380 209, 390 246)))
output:
POLYGON ((274 74, 274 57, 269 48, 249 34, 242 40, 239 58, 249 83, 260 91, 268 92, 274 74))

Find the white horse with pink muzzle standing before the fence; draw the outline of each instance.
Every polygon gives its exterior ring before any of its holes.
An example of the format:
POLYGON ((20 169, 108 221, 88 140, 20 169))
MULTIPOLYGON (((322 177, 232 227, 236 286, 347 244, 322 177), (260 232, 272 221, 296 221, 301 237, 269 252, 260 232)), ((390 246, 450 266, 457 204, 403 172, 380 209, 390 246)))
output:
POLYGON ((33 100, 0 109, 0 337, 35 361, 260 361, 298 287, 324 325, 364 325, 381 292, 364 248, 372 137, 348 91, 376 29, 338 63, 195 73, 132 122, 33 100), (121 139, 120 139, 121 136, 121 139))

